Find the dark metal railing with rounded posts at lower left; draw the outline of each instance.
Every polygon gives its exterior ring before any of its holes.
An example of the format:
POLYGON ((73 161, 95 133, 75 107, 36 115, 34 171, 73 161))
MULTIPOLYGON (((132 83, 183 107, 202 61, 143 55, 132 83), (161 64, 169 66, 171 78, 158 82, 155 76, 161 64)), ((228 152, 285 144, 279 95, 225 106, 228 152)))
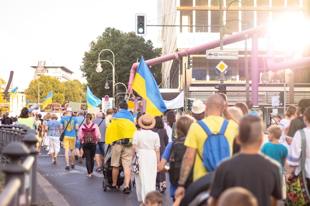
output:
POLYGON ((0 162, 5 163, 5 187, 0 206, 37 206, 36 130, 23 124, 0 127, 0 162))

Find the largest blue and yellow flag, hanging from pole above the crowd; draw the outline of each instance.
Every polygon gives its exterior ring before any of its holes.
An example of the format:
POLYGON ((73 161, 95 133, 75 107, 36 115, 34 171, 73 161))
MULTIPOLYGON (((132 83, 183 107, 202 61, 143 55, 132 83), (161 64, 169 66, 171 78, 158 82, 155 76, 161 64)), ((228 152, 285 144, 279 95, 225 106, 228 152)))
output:
POLYGON ((132 89, 147 101, 146 113, 152 117, 162 115, 166 110, 155 78, 143 57, 141 58, 132 89))

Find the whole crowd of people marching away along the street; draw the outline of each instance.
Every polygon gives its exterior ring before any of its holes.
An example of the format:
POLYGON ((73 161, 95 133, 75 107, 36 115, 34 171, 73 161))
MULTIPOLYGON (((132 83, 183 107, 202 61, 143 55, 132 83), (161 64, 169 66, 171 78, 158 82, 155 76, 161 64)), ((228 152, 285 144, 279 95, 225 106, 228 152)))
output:
MULTIPOLYGON (((248 101, 228 107, 226 95, 220 93, 209 96, 206 103, 194 101, 191 111, 168 111, 161 117, 144 114, 140 108, 133 115, 123 101, 118 108, 107 109, 106 114, 85 115, 80 110, 75 117, 67 108, 60 120, 55 114, 47 114, 43 120, 24 108, 15 122, 38 130, 38 155, 42 138, 49 137, 52 164, 57 163, 59 137, 64 132, 65 169, 74 168, 75 160, 82 164, 85 156, 87 177, 93 175, 95 163, 96 171, 104 169, 104 155, 110 145, 112 191, 119 190, 117 179, 121 173, 125 182, 122 193, 131 192, 130 167, 138 156, 135 183, 140 206, 152 205, 152 201, 162 204, 160 193, 167 189, 166 172, 174 206, 181 203, 191 183, 206 175, 212 175, 207 206, 277 206, 282 200, 289 203, 292 198, 286 188, 290 188, 293 177, 305 172, 306 185, 300 192, 310 189, 310 99, 288 107, 283 119, 271 113, 268 128, 264 128, 252 106, 248 101), (86 130, 93 131, 91 144, 87 143, 86 130), (265 130, 268 143, 263 144, 265 130), (213 135, 224 137, 227 147, 219 150, 227 150, 228 157, 217 157, 216 152, 206 149, 213 135), (302 161, 303 150, 306 155, 302 161), (212 158, 216 159, 216 166, 210 169, 206 161, 212 162, 212 158), (119 170, 120 165, 123 171, 119 170), (154 193, 156 186, 159 190, 154 193)), ((13 124, 8 114, 4 116, 2 124, 13 124)), ((218 149, 216 143, 212 146, 218 149)))

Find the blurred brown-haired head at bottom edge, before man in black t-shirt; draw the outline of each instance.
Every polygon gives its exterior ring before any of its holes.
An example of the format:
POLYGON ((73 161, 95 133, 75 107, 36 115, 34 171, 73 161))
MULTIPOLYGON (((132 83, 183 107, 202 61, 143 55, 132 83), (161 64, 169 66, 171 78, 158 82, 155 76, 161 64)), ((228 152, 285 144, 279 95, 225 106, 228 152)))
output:
POLYGON ((219 196, 217 206, 258 206, 258 202, 249 190, 232 187, 219 196))

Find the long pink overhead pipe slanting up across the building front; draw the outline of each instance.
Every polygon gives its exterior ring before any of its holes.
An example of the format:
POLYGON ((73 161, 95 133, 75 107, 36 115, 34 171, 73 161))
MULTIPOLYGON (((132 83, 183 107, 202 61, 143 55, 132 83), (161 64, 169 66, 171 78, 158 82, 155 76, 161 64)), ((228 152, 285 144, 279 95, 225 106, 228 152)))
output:
MULTIPOLYGON (((231 43, 234 43, 237 41, 243 41, 243 40, 245 40, 245 37, 247 37, 247 39, 249 39, 252 37, 252 35, 255 35, 255 34, 264 35, 266 32, 267 32, 267 25, 263 24, 263 25, 260 25, 258 27, 248 29, 248 30, 239 32, 237 34, 233 34, 233 35, 230 35, 228 37, 223 38, 223 45, 231 44, 231 43)), ((167 54, 164 56, 156 57, 154 59, 149 59, 145 62, 148 66, 160 64, 160 63, 165 62, 165 61, 170 61, 170 60, 176 59, 176 56, 178 56, 178 58, 180 58, 180 57, 187 56, 190 54, 195 54, 195 53, 198 53, 201 51, 206 51, 207 49, 219 47, 219 43, 220 43, 219 40, 211 41, 211 42, 199 45, 199 46, 195 46, 192 48, 187 48, 187 49, 182 50, 182 51, 178 51, 178 52, 173 53, 173 54, 167 54)), ((138 68, 138 66, 139 66, 139 63, 134 63, 131 67, 128 89, 127 89, 128 92, 130 92, 130 90, 131 90, 132 82, 134 81, 134 77, 135 77, 135 71, 138 68)))

